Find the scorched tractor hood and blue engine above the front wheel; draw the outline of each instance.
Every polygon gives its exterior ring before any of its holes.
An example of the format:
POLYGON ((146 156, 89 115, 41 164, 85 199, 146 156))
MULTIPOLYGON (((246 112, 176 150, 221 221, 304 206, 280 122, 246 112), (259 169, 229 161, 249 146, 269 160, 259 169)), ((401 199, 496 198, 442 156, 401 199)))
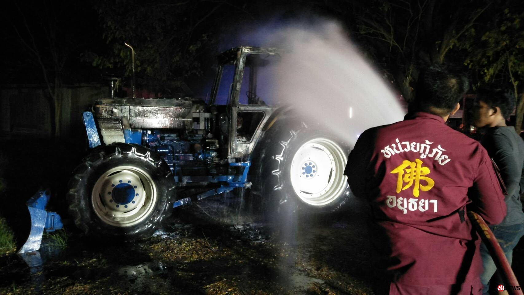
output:
POLYGON ((93 107, 106 145, 132 143, 150 148, 175 176, 217 173, 219 140, 213 138, 214 118, 205 111, 204 102, 189 97, 103 99, 93 107))

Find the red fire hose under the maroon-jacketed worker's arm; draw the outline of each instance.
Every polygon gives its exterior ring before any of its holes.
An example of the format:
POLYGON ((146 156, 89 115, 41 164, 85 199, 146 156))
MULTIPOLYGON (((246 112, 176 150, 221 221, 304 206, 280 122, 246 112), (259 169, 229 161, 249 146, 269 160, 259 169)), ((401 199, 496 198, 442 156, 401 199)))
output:
MULTIPOLYGON (((475 226, 475 230, 481 236, 482 242, 484 242, 486 248, 489 251, 489 254, 492 256, 493 261, 497 266, 497 270, 499 270, 500 276, 502 277, 502 280, 505 284, 504 290, 507 290, 511 295, 523 295, 519 282, 517 281, 517 277, 515 277, 515 274, 508 263, 508 259, 506 259, 506 255, 504 255, 504 251, 498 244, 497 239, 493 235, 493 232, 489 229, 484 219, 477 213, 471 211, 467 212, 467 216, 470 217, 473 226, 475 226)), ((502 290, 499 289, 499 291, 502 290)))

